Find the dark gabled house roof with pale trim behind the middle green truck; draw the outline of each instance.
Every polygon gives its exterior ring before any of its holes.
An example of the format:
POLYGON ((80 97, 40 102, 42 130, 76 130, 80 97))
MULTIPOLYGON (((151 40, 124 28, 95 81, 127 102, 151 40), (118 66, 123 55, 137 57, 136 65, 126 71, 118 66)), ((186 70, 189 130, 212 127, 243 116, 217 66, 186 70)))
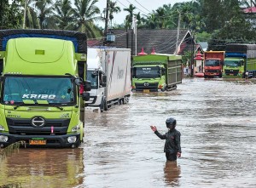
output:
MULTIPOLYGON (((131 48, 132 55, 138 54, 144 50, 150 54, 184 54, 185 51, 202 51, 201 46, 195 43, 188 30, 168 30, 168 29, 137 29, 133 30, 113 29, 111 33, 115 36, 113 43, 108 43, 110 47, 131 48), (177 38, 178 36, 178 38, 177 38), (136 48, 137 47, 137 48, 136 48), (177 48, 177 53, 176 53, 177 48)), ((88 46, 101 46, 102 41, 88 40, 88 46)))

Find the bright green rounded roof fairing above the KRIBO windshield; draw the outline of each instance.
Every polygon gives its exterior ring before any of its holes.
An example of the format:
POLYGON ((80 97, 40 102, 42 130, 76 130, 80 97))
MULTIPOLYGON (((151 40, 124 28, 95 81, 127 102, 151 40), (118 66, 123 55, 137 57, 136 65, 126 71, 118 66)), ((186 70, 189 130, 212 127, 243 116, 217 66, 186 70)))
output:
POLYGON ((61 39, 21 37, 9 39, 3 74, 75 75, 73 43, 61 39))

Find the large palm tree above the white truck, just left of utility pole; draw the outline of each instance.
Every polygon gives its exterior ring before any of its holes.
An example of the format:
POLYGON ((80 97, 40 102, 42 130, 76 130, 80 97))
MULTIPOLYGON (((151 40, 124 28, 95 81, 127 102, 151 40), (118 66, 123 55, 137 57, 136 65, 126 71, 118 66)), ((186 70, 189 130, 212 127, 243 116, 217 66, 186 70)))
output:
POLYGON ((95 21, 102 20, 100 9, 96 7, 98 0, 75 0, 74 18, 75 30, 85 32, 87 37, 96 37, 96 32, 99 31, 95 26, 95 21))

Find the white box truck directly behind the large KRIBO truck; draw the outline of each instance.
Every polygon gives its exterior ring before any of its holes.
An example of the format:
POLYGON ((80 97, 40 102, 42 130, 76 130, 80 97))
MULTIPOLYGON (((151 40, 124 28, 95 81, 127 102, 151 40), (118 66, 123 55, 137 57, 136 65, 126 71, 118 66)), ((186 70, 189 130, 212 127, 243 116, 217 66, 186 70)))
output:
POLYGON ((87 80, 91 82, 86 108, 107 111, 129 102, 131 95, 131 49, 88 48, 87 80))

